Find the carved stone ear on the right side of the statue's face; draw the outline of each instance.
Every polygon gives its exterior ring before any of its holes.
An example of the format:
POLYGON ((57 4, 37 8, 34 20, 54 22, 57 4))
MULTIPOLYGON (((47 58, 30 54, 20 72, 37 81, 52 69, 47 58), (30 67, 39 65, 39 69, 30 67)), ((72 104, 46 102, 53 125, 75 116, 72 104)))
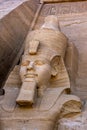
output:
POLYGON ((61 57, 56 55, 51 59, 51 67, 52 67, 52 72, 51 75, 52 76, 56 76, 58 74, 58 68, 59 68, 59 64, 60 64, 60 59, 61 57))

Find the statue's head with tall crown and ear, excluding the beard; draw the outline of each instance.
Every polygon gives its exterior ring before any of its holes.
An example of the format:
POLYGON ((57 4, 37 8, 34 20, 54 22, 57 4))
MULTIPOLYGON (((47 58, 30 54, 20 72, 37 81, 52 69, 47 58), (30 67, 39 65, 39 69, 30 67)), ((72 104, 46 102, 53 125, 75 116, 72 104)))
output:
POLYGON ((35 79, 38 87, 46 88, 52 77, 57 76, 67 47, 67 37, 59 31, 57 17, 47 16, 40 29, 29 33, 25 44, 20 69, 21 79, 35 79))

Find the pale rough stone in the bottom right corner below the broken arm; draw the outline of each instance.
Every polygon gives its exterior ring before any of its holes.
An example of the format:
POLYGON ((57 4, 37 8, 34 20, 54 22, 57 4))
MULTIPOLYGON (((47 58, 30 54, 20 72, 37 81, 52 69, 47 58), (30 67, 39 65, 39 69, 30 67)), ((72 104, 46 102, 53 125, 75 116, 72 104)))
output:
POLYGON ((75 118, 64 118, 59 121, 58 130, 86 130, 87 111, 75 118))

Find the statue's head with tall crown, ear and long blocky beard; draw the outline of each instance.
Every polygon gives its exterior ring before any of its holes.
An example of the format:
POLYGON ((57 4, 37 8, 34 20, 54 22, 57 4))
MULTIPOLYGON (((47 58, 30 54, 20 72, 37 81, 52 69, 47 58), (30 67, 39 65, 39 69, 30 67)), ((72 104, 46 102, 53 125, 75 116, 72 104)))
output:
POLYGON ((26 104, 28 101, 32 104, 34 103, 36 88, 38 88, 38 95, 42 96, 44 90, 52 86, 52 83, 58 87, 58 78, 60 79, 59 86, 61 86, 61 81, 63 85, 65 80, 68 79, 63 62, 67 37, 60 32, 57 17, 47 16, 44 25, 40 29, 31 31, 27 35, 25 44, 20 67, 22 88, 17 102, 26 104), (64 80, 61 78, 63 76, 58 76, 60 67, 63 68, 62 72, 65 72, 64 80), (27 90, 32 91, 28 93, 27 90), (30 99, 24 99, 24 97, 30 97, 30 99))

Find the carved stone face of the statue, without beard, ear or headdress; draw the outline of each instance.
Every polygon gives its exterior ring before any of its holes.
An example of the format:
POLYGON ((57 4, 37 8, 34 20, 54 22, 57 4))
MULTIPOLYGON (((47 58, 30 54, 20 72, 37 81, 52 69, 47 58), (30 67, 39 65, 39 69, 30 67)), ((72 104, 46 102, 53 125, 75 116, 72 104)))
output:
POLYGON ((22 81, 25 78, 34 78, 38 86, 47 85, 51 78, 50 61, 46 60, 45 58, 26 60, 21 65, 20 75, 22 81))

